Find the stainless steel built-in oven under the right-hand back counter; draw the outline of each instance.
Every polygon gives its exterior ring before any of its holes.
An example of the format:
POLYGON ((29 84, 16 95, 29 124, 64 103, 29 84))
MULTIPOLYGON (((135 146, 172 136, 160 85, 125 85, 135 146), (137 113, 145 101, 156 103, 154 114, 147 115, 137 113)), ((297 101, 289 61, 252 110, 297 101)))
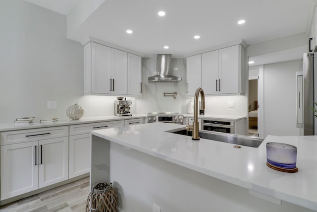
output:
POLYGON ((234 122, 203 119, 202 130, 234 134, 234 122))

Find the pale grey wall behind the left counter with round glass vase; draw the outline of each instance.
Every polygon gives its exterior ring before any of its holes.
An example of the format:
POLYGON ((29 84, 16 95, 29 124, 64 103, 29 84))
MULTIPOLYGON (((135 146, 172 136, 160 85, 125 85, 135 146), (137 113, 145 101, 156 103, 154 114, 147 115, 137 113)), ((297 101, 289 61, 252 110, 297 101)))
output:
MULTIPOLYGON (((83 46, 66 38, 66 17, 23 0, 0 1, 0 122, 56 116, 78 102, 84 117, 113 115, 115 97, 83 96, 83 46), (47 101, 57 109, 47 109, 47 101)), ((131 99, 131 98, 129 98, 131 99)))

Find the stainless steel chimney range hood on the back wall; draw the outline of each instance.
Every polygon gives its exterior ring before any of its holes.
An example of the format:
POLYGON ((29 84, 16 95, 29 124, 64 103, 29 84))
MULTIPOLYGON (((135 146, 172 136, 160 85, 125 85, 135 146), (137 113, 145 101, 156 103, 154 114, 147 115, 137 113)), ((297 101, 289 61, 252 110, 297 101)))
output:
POLYGON ((157 75, 148 77, 149 82, 179 82, 182 77, 172 75, 171 70, 172 55, 158 54, 157 75))

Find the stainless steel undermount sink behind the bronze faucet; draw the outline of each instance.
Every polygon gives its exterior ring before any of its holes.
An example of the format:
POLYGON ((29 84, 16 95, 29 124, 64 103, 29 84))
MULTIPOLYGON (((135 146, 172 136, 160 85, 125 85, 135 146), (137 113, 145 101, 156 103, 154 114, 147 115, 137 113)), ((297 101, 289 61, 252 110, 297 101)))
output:
MULTIPOLYGON (((192 136, 193 131, 187 131, 186 129, 176 129, 167 131, 168 133, 174 133, 184 136, 192 136)), ((250 147, 259 147, 260 144, 264 139, 250 137, 250 136, 241 136, 241 135, 234 135, 234 134, 227 134, 227 133, 218 133, 218 132, 206 132, 206 131, 199 131, 199 137, 202 139, 208 139, 213 141, 220 141, 226 143, 232 143, 237 145, 243 146, 250 146, 250 147)))

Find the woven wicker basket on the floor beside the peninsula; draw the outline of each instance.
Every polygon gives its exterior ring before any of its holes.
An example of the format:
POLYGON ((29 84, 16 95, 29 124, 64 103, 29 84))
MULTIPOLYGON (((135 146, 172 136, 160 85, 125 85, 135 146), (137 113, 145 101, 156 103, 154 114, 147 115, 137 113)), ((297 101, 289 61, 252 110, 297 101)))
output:
POLYGON ((111 183, 98 183, 88 195, 86 212, 116 212, 117 195, 111 183))

